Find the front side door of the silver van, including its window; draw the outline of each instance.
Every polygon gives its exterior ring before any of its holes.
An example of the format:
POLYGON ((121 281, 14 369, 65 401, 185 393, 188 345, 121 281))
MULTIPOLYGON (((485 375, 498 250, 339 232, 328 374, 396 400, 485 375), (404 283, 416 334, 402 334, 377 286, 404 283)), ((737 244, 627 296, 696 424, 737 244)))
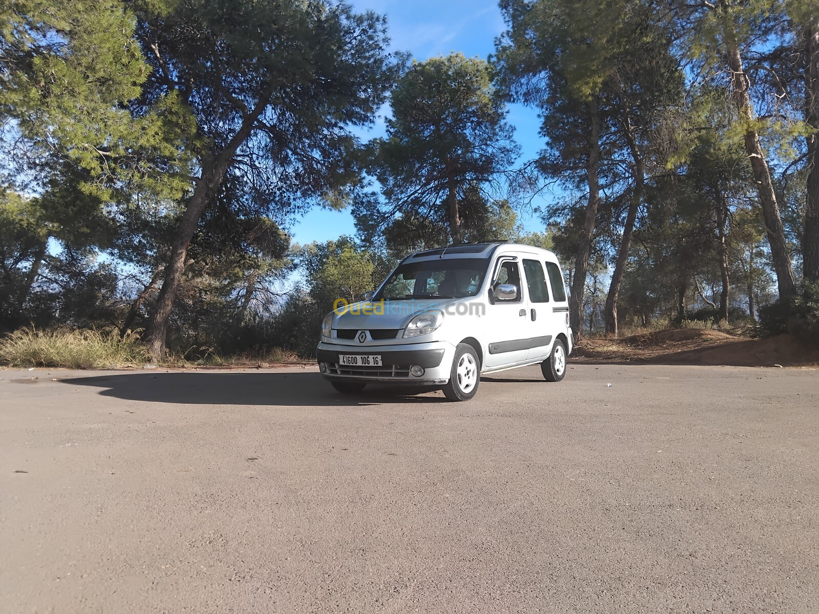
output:
POLYGON ((489 289, 502 283, 518 288, 514 299, 490 299, 486 305, 486 339, 483 350, 483 366, 504 367, 522 363, 529 354, 529 303, 523 290, 523 274, 517 259, 501 256, 495 264, 494 278, 489 289))

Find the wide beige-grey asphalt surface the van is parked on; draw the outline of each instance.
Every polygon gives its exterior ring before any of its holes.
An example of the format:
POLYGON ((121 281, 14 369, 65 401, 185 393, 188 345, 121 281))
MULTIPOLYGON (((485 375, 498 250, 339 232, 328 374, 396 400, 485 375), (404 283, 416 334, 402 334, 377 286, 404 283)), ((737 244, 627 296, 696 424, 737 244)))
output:
POLYGON ((0 378, 2 612, 819 611, 816 370, 0 378))

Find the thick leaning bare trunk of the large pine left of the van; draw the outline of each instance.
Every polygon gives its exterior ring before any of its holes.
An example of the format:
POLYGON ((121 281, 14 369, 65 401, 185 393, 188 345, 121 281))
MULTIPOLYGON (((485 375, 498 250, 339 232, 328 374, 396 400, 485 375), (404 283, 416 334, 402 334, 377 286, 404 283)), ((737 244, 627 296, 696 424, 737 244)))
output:
POLYGON ((270 96, 273 94, 274 84, 269 84, 256 102, 256 106, 242 120, 242 126, 233 135, 219 155, 207 157, 202 162, 201 178, 193 190, 193 195, 188 201, 188 206, 179 221, 179 230, 176 238, 171 244, 170 260, 165 267, 165 280, 162 282, 162 289, 156 299, 156 311, 147 329, 147 347, 154 360, 161 360, 165 354, 165 338, 168 334, 168 320, 170 312, 174 308, 176 292, 179 290, 179 282, 182 280, 182 273, 185 265, 185 257, 188 255, 188 245, 190 245, 193 233, 196 231, 197 223, 206 206, 219 193, 219 185, 222 183, 224 174, 233 160, 233 154, 242 142, 250 136, 256 120, 265 111, 270 96))

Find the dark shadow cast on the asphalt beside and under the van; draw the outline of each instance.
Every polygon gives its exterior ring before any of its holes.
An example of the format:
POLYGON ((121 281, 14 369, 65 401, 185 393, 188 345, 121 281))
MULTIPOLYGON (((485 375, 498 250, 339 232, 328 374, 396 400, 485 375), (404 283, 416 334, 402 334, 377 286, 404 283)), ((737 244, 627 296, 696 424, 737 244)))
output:
POLYGON ((201 405, 361 406, 396 403, 445 403, 427 386, 369 385, 356 394, 333 390, 319 373, 170 372, 124 373, 60 380, 72 386, 94 386, 115 399, 149 403, 201 405))

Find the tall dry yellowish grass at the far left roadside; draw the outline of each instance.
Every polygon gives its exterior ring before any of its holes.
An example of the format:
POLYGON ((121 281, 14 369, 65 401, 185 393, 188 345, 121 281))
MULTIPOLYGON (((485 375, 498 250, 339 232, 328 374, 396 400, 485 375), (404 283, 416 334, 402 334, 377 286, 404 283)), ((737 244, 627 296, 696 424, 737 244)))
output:
POLYGON ((9 367, 120 368, 141 366, 147 359, 138 332, 120 339, 115 329, 20 328, 0 340, 0 363, 9 367))

